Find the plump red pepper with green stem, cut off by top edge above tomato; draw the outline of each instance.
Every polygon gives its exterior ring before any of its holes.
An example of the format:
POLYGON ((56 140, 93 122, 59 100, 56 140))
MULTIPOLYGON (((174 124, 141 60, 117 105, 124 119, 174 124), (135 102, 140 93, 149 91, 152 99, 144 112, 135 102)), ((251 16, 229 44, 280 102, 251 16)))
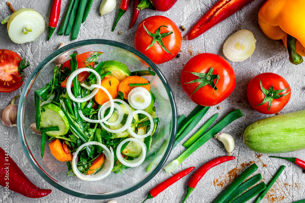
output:
POLYGON ((140 11, 145 8, 150 8, 152 10, 165 12, 171 9, 176 2, 177 0, 142 0, 137 6, 137 9, 140 11))

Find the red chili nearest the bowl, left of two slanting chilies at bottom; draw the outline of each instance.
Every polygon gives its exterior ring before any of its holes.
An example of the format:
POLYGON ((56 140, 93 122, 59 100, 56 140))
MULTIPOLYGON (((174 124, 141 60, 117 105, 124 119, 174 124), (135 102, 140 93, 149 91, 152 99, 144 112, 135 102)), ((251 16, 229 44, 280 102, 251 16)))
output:
POLYGON ((179 179, 181 179, 181 178, 185 177, 187 174, 189 174, 192 170, 194 170, 194 168, 195 167, 190 167, 190 168, 187 168, 185 170, 182 170, 179 173, 173 175, 172 177, 166 179, 162 183, 158 184, 156 187, 152 188, 149 191, 149 194, 148 194, 147 198, 144 201, 142 201, 142 203, 145 202, 146 200, 150 199, 150 198, 156 197, 160 192, 162 192, 163 190, 168 188, 170 185, 174 184, 179 179))

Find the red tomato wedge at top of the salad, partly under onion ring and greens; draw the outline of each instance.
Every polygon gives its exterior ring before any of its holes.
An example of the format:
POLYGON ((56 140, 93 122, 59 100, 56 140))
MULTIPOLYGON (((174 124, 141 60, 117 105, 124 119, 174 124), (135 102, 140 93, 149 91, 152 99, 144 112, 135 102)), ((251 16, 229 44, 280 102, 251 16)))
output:
MULTIPOLYGON (((88 51, 88 52, 85 52, 85 53, 78 54, 76 56, 78 68, 87 67, 84 62, 87 58, 90 57, 91 53, 94 53, 94 51, 88 51)), ((65 67, 68 67, 69 69, 71 69, 70 60, 67 60, 66 62, 63 62, 63 67, 62 67, 63 70, 64 70, 65 67)), ((91 62, 89 65, 94 67, 94 62, 91 62)), ((80 83, 84 82, 84 80, 86 80, 86 78, 89 77, 89 75, 90 74, 87 71, 81 72, 80 74, 78 74, 78 81, 80 81, 80 83)), ((66 79, 60 84, 60 86, 62 86, 63 88, 66 88, 68 77, 66 77, 66 79)), ((73 82, 72 82, 71 87, 73 87, 73 82)))

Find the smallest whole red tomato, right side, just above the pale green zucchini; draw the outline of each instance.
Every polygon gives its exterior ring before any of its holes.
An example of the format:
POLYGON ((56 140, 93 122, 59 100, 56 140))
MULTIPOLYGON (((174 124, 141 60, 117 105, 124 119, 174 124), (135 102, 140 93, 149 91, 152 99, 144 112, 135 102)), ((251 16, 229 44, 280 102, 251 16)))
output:
POLYGON ((288 103, 290 97, 291 88, 288 82, 282 76, 275 73, 259 74, 250 80, 247 87, 247 98, 250 105, 258 112, 264 114, 278 113, 288 103), (265 93, 260 87, 260 81, 265 89, 265 93), (273 86, 273 89, 271 86, 273 86), (282 90, 282 92, 278 93, 279 91, 274 92, 274 90, 282 90), (269 104, 269 101, 271 102, 271 105, 269 104), (262 102, 264 102, 264 104, 260 105, 262 102), (269 105, 270 110, 268 109, 269 105))

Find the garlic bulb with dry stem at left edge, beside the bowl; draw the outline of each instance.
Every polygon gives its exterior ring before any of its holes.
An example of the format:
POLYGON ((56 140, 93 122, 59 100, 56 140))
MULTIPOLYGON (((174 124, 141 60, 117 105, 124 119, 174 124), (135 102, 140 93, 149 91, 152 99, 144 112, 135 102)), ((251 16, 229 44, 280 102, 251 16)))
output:
POLYGON ((3 126, 17 126, 15 124, 16 117, 17 117, 17 106, 14 104, 16 98, 20 97, 20 95, 14 97, 11 101, 11 104, 5 108, 0 110, 0 121, 2 122, 3 126))

